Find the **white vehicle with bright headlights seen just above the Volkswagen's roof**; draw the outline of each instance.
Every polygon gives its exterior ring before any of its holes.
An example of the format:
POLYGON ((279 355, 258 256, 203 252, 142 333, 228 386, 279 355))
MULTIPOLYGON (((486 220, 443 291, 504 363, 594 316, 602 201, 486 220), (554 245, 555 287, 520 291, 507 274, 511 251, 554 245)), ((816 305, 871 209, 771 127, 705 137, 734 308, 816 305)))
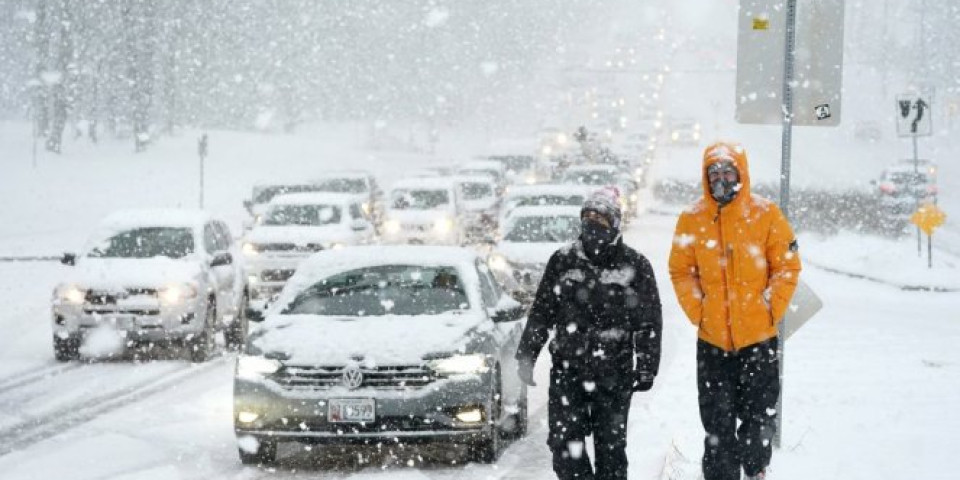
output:
POLYGON ((387 195, 384 243, 460 245, 464 239, 462 200, 449 178, 408 178, 387 195))

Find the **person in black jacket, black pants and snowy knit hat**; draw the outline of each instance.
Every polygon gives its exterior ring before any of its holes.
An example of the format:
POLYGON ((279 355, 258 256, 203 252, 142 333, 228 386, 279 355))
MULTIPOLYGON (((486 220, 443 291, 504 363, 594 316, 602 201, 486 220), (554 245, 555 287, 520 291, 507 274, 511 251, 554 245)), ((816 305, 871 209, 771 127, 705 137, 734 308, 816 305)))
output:
POLYGON ((660 366, 660 295, 650 262, 623 243, 615 188, 591 195, 581 222, 580 238, 547 263, 516 358, 520 379, 536 385, 533 366, 553 332, 547 444, 557 477, 625 479, 630 397, 653 386, 660 366))

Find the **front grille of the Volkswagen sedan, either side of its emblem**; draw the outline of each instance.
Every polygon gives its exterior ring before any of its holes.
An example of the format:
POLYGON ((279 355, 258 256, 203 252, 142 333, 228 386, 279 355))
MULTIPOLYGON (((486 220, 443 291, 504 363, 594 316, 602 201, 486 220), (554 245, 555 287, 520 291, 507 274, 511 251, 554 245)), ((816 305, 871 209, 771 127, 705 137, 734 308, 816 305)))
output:
MULTIPOLYGON (((273 375, 273 379, 288 390, 325 390, 343 387, 343 372, 342 366, 287 365, 273 375)), ((363 383, 359 388, 421 388, 436 380, 432 371, 420 365, 361 368, 360 372, 363 373, 363 383)))

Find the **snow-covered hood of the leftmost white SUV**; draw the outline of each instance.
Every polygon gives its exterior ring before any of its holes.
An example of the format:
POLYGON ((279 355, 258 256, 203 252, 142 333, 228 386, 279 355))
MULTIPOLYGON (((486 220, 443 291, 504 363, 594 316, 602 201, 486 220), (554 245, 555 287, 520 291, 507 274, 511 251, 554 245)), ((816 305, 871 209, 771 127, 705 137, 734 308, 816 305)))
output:
POLYGON ((171 283, 195 282, 201 274, 200 265, 187 259, 83 257, 70 269, 64 283, 103 290, 160 288, 171 283))

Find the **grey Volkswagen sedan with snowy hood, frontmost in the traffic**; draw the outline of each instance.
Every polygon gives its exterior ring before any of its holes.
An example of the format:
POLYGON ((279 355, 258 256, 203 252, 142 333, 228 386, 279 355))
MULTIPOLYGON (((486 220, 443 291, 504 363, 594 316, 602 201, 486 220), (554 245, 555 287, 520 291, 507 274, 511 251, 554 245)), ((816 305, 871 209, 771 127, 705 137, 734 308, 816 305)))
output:
POLYGON ((513 358, 524 312, 466 249, 315 254, 237 359, 241 461, 276 463, 288 441, 453 442, 495 461, 527 426, 513 358))

